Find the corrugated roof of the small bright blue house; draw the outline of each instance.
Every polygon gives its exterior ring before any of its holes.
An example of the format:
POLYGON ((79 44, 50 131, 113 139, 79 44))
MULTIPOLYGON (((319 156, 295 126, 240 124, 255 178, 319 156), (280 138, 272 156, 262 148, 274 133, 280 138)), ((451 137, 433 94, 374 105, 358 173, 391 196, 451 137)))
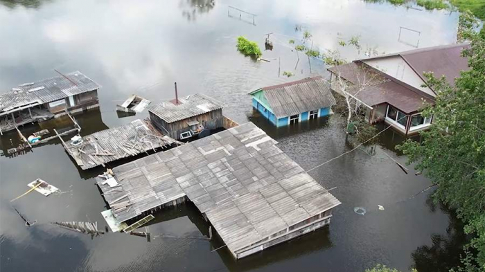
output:
POLYGON ((261 88, 276 118, 335 105, 335 98, 321 77, 306 78, 261 88))

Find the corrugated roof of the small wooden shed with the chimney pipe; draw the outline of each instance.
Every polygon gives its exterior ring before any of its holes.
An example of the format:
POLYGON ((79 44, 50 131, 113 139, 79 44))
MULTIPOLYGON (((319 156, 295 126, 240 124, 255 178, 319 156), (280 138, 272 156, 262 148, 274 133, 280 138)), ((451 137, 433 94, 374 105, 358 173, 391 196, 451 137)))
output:
POLYGON ((206 114, 209 111, 222 109, 222 107, 224 107, 222 102, 202 93, 195 93, 185 98, 179 98, 179 105, 175 105, 171 101, 165 101, 148 107, 148 111, 166 123, 173 123, 193 116, 206 114))

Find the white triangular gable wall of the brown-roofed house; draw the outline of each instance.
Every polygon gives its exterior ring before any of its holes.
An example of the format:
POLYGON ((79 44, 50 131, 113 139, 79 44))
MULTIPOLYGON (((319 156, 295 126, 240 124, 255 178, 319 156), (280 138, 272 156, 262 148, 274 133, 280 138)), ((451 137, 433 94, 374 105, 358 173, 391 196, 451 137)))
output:
POLYGON ((403 60, 402 57, 396 55, 394 57, 382 57, 374 60, 364 60, 365 64, 376 68, 393 78, 405 82, 416 89, 424 91, 430 96, 436 96, 434 92, 428 87, 421 87, 425 82, 419 77, 416 72, 403 60))

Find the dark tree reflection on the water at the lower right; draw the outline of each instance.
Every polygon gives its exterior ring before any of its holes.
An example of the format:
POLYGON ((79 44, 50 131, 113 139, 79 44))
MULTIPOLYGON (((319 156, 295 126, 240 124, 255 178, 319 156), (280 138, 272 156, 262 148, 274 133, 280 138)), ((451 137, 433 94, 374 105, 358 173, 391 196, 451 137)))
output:
POLYGON ((419 246, 412 253, 414 268, 418 271, 450 271, 460 265, 460 255, 465 255, 464 245, 468 237, 464 233, 464 224, 457 218, 455 210, 443 203, 434 203, 432 194, 426 201, 432 211, 441 209, 450 218, 446 235, 431 235, 431 246, 419 246))

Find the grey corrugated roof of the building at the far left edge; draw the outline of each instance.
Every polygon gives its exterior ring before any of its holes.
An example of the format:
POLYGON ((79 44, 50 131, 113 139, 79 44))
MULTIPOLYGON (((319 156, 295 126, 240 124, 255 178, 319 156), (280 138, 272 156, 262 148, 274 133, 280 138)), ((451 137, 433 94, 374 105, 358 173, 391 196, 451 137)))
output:
POLYGON ((53 102, 100 88, 96 82, 80 71, 68 73, 65 76, 64 78, 59 75, 38 82, 20 84, 19 87, 12 88, 12 91, 0 94, 0 112, 35 102, 39 104, 53 102))

